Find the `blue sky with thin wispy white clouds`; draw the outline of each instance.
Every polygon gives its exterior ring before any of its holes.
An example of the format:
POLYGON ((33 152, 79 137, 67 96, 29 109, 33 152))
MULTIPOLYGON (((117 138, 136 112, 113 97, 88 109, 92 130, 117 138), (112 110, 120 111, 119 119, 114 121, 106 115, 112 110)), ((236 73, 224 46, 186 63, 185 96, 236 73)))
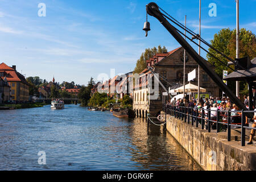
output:
MULTIPOLYGON (((87 84, 100 73, 110 76, 133 71, 145 48, 179 43, 152 16, 151 31, 145 38, 145 6, 151 1, 60 1, 0 0, 0 62, 16 65, 28 76, 58 82, 87 84), (46 17, 38 16, 38 4, 46 4, 46 17)), ((199 0, 155 1, 162 9, 197 32, 199 0)), ((255 34, 256 0, 240 1, 240 27, 255 34)), ((221 28, 236 27, 234 0, 202 0, 201 36, 209 42, 221 28), (217 16, 208 7, 216 3, 217 16)), ((194 46, 195 47, 195 46, 194 46)), ((197 47, 195 47, 197 50, 197 47)), ((202 53, 205 56, 205 53, 202 53)))

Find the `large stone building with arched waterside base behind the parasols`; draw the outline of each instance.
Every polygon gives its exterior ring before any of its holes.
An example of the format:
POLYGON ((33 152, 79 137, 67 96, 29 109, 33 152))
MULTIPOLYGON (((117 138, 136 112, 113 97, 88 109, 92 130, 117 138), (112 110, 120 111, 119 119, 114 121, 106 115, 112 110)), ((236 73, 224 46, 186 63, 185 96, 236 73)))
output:
MULTIPOLYGON (((158 96, 156 97, 155 95, 157 94, 150 92, 150 86, 148 86, 150 84, 148 81, 154 82, 156 79, 148 69, 142 71, 139 74, 139 80, 133 92, 133 109, 138 117, 146 117, 146 113, 152 115, 159 114, 163 106, 163 92, 166 92, 172 85, 177 83, 183 84, 183 60, 184 48, 179 47, 168 53, 156 54, 150 60, 146 61, 147 67, 151 67, 154 73, 159 74, 159 80, 166 89, 158 84, 159 90, 158 96)), ((188 53, 186 53, 185 61, 185 84, 188 84, 188 73, 196 68, 196 78, 191 81, 191 84, 197 85, 198 65, 188 53)), ((209 67, 212 67, 210 63, 209 67)), ((207 90, 207 94, 210 96, 219 96, 218 86, 203 69, 200 69, 200 83, 200 86, 207 90)))

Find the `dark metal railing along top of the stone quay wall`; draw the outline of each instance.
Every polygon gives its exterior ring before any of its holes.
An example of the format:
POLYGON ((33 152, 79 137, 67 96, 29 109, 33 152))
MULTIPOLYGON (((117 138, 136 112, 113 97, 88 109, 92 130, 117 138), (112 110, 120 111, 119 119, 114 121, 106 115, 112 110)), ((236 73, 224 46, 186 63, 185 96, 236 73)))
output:
MULTIPOLYGON (((249 110, 220 110, 220 109, 204 109, 184 107, 184 106, 172 106, 163 105, 163 111, 166 114, 172 115, 172 117, 181 119, 192 126, 201 125, 202 130, 216 130, 216 133, 221 131, 228 131, 228 141, 231 141, 231 126, 241 128, 241 145, 245 146, 245 130, 256 130, 255 127, 249 127, 246 125, 245 113, 255 113, 256 111, 249 110), (211 114, 212 113, 212 114, 211 114), (214 113, 214 114, 213 114, 214 113)), ((249 121, 249 119, 248 119, 249 121)), ((249 123, 249 122, 248 122, 249 123)))

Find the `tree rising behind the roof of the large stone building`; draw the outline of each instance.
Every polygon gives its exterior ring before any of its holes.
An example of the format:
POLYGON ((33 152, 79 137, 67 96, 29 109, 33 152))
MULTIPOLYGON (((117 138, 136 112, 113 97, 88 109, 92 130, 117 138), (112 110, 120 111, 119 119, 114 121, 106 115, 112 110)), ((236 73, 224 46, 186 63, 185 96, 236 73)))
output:
POLYGON ((142 53, 141 57, 137 60, 136 67, 134 68, 134 73, 141 73, 144 69, 147 68, 146 60, 149 60, 153 57, 156 53, 164 53, 167 52, 166 47, 158 46, 158 48, 147 48, 142 53))

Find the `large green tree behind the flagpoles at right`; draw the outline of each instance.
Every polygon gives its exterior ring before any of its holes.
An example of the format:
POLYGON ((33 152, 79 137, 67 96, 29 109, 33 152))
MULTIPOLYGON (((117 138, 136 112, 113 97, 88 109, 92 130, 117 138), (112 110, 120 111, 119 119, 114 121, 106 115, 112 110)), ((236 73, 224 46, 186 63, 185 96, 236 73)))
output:
MULTIPOLYGON (((218 34, 214 35, 213 40, 210 41, 210 44, 221 51, 226 56, 232 58, 233 60, 236 58, 236 29, 230 30, 229 28, 224 28, 218 32, 218 34)), ((216 60, 209 53, 207 54, 207 59, 209 63, 214 65, 215 72, 220 78, 222 78, 223 70, 227 70, 229 73, 233 72, 232 69, 228 68, 228 59, 221 56, 219 53, 215 52, 213 49, 209 48, 208 51, 220 59, 224 64, 221 64, 220 61, 216 60)), ((256 37, 251 31, 246 31, 245 28, 241 28, 240 30, 240 57, 249 56, 250 59, 256 57, 256 37)), ((234 69, 234 65, 232 65, 234 69)), ((228 86, 232 90, 236 90, 235 82, 228 82, 228 86)), ((241 81, 240 83, 241 93, 247 93, 247 84, 245 81, 241 81)))

